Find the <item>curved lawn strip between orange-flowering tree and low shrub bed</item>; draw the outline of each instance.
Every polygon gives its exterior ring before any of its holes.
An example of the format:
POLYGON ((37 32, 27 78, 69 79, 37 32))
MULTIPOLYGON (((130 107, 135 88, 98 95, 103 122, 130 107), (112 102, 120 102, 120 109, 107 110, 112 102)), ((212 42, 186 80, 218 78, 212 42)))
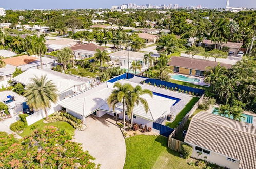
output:
POLYGON ((66 130, 70 134, 73 134, 75 131, 75 128, 73 128, 73 126, 71 126, 69 123, 64 122, 64 121, 57 121, 57 122, 50 122, 50 123, 44 123, 43 121, 44 121, 44 119, 39 120, 30 126, 27 126, 23 130, 23 132, 19 135, 22 137, 29 136, 35 129, 43 129, 45 126, 55 126, 58 129, 66 130))

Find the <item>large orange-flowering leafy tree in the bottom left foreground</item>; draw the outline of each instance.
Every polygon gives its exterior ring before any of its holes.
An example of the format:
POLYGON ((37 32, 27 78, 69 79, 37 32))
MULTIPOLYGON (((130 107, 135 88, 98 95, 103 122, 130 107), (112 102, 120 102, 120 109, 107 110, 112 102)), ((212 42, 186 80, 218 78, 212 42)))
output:
POLYGON ((64 130, 49 126, 18 140, 0 132, 0 167, 3 168, 95 168, 95 158, 64 130))

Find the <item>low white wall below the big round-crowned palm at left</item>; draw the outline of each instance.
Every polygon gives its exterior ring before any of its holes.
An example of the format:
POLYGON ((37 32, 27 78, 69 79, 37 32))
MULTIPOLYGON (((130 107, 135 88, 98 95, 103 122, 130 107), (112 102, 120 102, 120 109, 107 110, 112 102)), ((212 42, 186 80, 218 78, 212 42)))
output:
MULTIPOLYGON (((48 115, 51 115, 60 109, 61 109, 60 105, 55 104, 55 106, 52 106, 50 109, 47 109, 47 113, 48 113, 48 115)), ((39 111, 34 111, 34 114, 27 116, 26 120, 27 120, 28 125, 31 125, 43 118, 45 118, 45 111, 41 109, 39 111)))

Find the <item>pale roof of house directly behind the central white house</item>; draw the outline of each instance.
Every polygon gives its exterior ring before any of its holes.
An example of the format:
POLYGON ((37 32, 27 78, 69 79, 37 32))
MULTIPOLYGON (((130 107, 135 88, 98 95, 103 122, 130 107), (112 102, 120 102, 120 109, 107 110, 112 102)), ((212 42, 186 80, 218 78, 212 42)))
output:
MULTIPOLYGON (((126 50, 114 52, 114 53, 111 53, 109 55, 112 56, 112 57, 128 59, 128 51, 126 51, 126 50)), ((129 52, 129 56, 130 56, 130 59, 140 59, 140 60, 143 60, 144 53, 130 51, 129 52)))

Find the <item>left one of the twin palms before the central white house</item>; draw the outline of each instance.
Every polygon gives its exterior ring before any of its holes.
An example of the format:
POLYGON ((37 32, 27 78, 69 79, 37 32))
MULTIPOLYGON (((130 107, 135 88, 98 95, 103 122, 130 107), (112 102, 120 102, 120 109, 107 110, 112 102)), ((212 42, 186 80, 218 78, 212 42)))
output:
POLYGON ((116 82, 114 84, 114 89, 111 93, 111 95, 107 99, 107 103, 109 107, 115 111, 115 107, 117 104, 122 103, 123 105, 123 123, 124 123, 124 129, 125 129, 125 108, 129 107, 128 97, 129 92, 133 90, 132 85, 129 83, 125 83, 122 85, 119 82, 116 82))

